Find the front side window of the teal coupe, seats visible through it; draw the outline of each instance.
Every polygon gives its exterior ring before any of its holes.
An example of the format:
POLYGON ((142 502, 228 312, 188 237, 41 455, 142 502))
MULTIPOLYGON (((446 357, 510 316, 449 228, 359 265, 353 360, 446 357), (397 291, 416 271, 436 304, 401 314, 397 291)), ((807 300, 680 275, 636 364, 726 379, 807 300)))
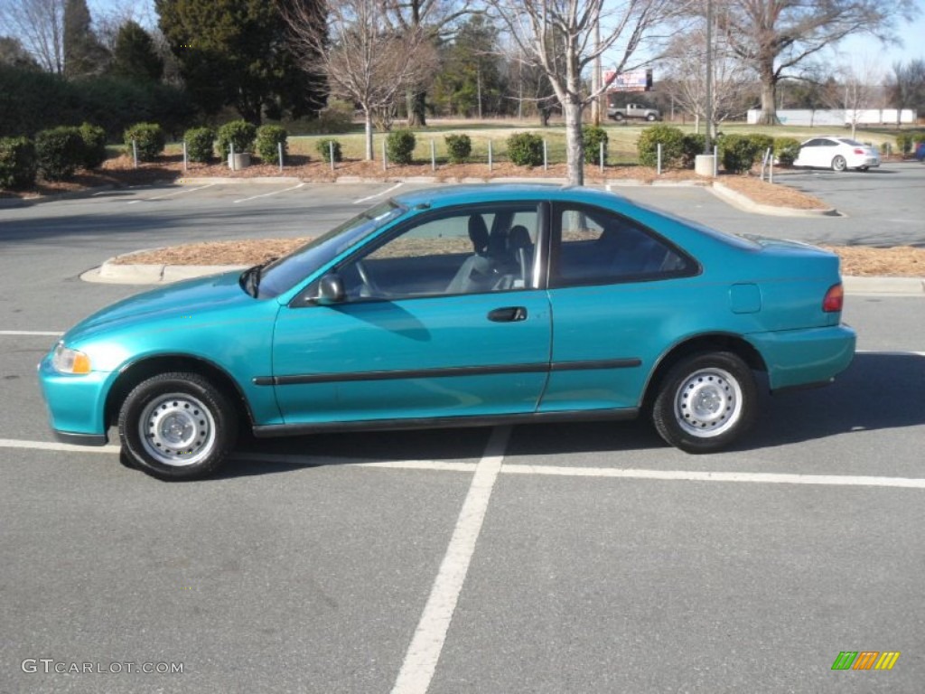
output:
MULTIPOLYGON (((426 213, 425 213, 426 215, 426 213)), ((339 267, 350 300, 394 300, 533 286, 536 206, 426 215, 339 267)))

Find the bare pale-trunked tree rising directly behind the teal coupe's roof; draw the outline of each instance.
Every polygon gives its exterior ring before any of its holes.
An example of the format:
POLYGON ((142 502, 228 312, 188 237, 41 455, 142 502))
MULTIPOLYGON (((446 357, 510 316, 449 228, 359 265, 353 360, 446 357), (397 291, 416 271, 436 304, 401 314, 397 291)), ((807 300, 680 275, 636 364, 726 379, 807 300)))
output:
POLYGON ((610 86, 587 91, 582 72, 613 49, 614 77, 649 31, 678 6, 669 0, 487 0, 509 31, 525 65, 542 68, 562 105, 568 178, 585 182, 582 109, 610 86), (606 8, 605 8, 606 5, 606 8), (595 29, 600 29, 597 41, 595 29))

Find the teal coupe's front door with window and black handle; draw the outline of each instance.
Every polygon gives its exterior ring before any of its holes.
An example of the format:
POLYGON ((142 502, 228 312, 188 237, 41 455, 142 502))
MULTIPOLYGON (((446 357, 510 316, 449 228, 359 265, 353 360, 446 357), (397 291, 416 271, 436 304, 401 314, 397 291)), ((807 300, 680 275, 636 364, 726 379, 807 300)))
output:
POLYGON ((536 204, 427 212, 340 263, 277 317, 287 424, 529 413, 549 373, 549 298, 524 262, 536 204), (510 242, 513 227, 527 238, 510 242))

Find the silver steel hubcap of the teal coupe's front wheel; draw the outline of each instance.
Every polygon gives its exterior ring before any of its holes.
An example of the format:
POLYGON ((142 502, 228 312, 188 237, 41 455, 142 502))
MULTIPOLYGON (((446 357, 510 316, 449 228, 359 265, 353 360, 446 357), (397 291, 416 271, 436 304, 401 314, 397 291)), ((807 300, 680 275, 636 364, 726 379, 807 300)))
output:
POLYGON ((194 465, 216 442, 212 413, 186 393, 169 393, 148 403, 138 429, 145 452, 164 465, 194 465))

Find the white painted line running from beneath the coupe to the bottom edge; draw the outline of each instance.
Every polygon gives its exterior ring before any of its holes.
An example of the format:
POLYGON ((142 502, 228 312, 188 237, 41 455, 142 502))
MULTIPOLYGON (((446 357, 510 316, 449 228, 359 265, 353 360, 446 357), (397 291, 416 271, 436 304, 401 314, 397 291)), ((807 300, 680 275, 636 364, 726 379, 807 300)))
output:
POLYGON ((437 579, 401 663, 392 694, 425 694, 430 686, 510 438, 510 427, 492 430, 485 454, 475 466, 475 475, 462 502, 450 546, 440 563, 437 579))

